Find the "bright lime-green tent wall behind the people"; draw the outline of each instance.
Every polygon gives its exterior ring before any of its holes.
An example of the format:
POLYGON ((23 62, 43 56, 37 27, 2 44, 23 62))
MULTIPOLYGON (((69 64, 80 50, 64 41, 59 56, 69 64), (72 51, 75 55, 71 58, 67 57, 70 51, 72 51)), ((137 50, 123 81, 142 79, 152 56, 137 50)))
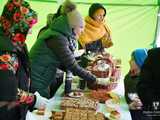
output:
MULTIPOLYGON (((0 13, 7 0, 0 0, 0 13)), ((26 0, 38 12, 38 24, 27 37, 30 49, 34 44, 38 31, 46 24, 48 13, 55 13, 59 3, 56 0, 26 0)), ((158 28, 159 0, 72 0, 85 17, 91 3, 99 2, 107 10, 106 23, 112 31, 114 46, 108 51, 122 60, 122 72, 129 69, 128 61, 131 52, 136 48, 152 48, 158 28)))

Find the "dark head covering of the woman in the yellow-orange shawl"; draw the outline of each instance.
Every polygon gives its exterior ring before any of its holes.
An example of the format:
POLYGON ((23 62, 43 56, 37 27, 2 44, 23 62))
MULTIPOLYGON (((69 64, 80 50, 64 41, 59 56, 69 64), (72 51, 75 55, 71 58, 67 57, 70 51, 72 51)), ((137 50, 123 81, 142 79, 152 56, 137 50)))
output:
POLYGON ((92 18, 93 14, 96 12, 98 9, 103 9, 106 15, 106 9, 103 7, 102 4, 100 3, 93 3, 90 8, 89 8, 89 16, 92 18))

